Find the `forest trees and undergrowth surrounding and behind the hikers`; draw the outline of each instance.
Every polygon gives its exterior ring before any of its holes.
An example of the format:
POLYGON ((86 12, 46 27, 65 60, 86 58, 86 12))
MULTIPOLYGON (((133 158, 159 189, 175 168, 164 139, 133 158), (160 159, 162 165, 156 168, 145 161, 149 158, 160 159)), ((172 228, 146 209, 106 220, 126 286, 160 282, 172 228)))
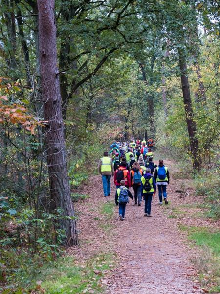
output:
POLYGON ((113 140, 151 136, 161 156, 215 176, 219 1, 2 0, 1 14, 7 282, 78 244, 70 188, 113 140))

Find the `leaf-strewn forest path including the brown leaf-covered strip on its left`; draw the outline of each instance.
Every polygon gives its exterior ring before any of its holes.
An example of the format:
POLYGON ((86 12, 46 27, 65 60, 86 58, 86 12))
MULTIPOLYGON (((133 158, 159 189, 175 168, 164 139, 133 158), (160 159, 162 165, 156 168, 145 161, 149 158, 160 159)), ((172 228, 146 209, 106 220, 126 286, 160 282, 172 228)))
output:
MULTIPOLYGON (((172 162, 166 161, 166 164, 172 166, 172 162)), ((176 181, 171 178, 168 201, 180 201, 175 189, 176 181)), ((87 190, 88 186, 83 187, 81 193, 86 193, 87 190)), ((133 194, 132 188, 130 191, 133 194)), ((102 281, 107 287, 106 293, 204 293, 199 289, 198 282, 190 279, 196 271, 189 261, 188 248, 184 244, 186 237, 177 228, 177 219, 168 218, 165 214, 166 206, 158 204, 158 191, 152 201, 152 218, 144 217, 144 201, 138 207, 130 199, 126 205, 124 221, 118 218, 117 206, 113 219, 98 214, 105 203, 114 203, 114 194, 113 179, 111 196, 104 197, 101 177, 92 176, 89 180, 90 198, 76 206, 81 215, 78 227, 83 243, 74 255, 78 253, 80 259, 87 258, 99 250, 106 253, 113 251, 117 255, 116 266, 102 281), (107 233, 100 230, 97 217, 110 225, 107 233)))

